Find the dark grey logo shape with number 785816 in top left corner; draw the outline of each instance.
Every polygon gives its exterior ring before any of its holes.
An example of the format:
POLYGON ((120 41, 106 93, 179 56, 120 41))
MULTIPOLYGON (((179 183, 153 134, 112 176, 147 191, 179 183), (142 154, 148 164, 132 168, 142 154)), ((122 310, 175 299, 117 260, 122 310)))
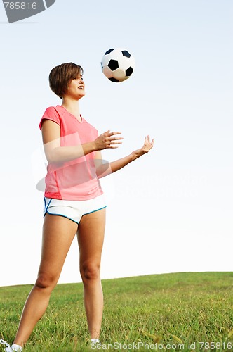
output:
POLYGON ((4 8, 8 23, 24 20, 25 18, 37 15, 55 3, 55 0, 25 0, 25 1, 4 1, 4 8))

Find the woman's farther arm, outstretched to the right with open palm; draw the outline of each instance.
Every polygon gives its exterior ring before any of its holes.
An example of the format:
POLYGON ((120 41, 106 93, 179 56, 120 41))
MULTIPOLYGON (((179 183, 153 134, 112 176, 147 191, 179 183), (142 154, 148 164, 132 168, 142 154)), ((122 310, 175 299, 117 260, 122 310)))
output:
POLYGON ((95 152, 95 165, 96 165, 96 173, 98 177, 99 178, 105 177, 113 172, 116 172, 124 168, 124 166, 131 163, 131 161, 135 161, 136 159, 140 158, 140 156, 144 155, 145 153, 148 153, 148 151, 152 149, 153 145, 154 145, 154 139, 152 139, 152 142, 150 142, 150 138, 149 136, 147 136, 145 137, 145 142, 142 148, 133 151, 130 155, 125 156, 124 158, 121 158, 116 161, 112 161, 112 163, 103 163, 101 152, 100 151, 95 152))

